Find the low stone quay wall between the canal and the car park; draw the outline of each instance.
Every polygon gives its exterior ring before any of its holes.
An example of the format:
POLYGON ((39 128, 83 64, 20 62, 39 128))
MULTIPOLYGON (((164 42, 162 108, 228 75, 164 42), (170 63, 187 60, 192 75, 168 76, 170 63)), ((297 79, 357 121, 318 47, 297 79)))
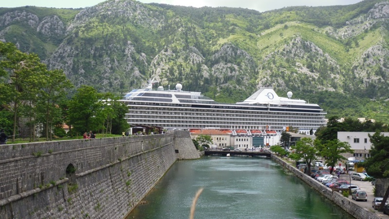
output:
POLYGON ((354 216, 356 219, 379 219, 379 217, 366 210, 365 208, 355 204, 353 201, 350 201, 348 198, 343 197, 343 195, 337 191, 332 191, 332 189, 328 188, 327 186, 323 185, 322 183, 318 182, 317 180, 313 179, 312 177, 304 174, 299 169, 294 167, 293 165, 290 165, 286 163, 284 160, 282 160, 280 157, 275 156, 272 154, 271 159, 276 161, 278 164, 281 164, 284 168, 288 169, 290 172, 295 174, 298 178, 300 178, 302 181, 316 189, 318 192, 320 192, 323 196, 325 196, 327 199, 333 201, 336 205, 341 207, 343 210, 347 211, 349 214, 354 216))

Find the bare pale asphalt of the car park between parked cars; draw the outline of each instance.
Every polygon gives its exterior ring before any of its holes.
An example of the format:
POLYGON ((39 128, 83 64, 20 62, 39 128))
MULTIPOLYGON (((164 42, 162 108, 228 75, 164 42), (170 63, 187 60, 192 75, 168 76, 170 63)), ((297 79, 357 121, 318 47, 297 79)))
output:
MULTIPOLYGON (((341 174, 340 179, 346 180, 350 182, 350 175, 348 174, 341 174)), ((371 185, 371 182, 368 181, 357 181, 357 180, 351 180, 352 184, 358 185, 360 187, 360 190, 365 191, 368 194, 368 201, 355 201, 351 198, 351 195, 349 196, 350 201, 353 201, 354 203, 358 204, 359 206, 367 209, 370 212, 375 212, 380 218, 382 219, 389 219, 388 215, 384 215, 382 212, 379 212, 378 210, 374 210, 372 208, 371 202, 374 199, 373 195, 373 185, 371 185)))

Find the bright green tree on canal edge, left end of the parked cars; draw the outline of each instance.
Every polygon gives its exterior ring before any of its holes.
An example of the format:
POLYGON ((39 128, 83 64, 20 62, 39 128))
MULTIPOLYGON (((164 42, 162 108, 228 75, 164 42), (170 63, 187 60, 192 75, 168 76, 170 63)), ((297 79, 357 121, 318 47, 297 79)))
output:
POLYGON ((289 154, 289 158, 295 161, 301 159, 307 164, 308 174, 311 172, 311 164, 317 159, 318 149, 316 148, 317 141, 311 138, 301 138, 300 141, 296 142, 296 145, 291 146, 294 152, 289 154))

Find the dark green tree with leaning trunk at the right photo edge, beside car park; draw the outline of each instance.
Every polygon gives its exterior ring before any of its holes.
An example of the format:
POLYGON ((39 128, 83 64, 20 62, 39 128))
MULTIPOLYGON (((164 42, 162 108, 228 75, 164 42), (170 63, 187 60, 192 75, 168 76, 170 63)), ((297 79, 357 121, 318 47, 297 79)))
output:
MULTIPOLYGON (((389 136, 384 136, 379 132, 375 132, 370 136, 371 149, 370 157, 366 158, 365 162, 361 163, 365 167, 366 172, 376 178, 389 178, 389 136)), ((389 186, 386 189, 385 195, 381 203, 385 203, 389 196, 389 186)), ((383 211, 384 204, 381 204, 378 211, 383 211)))

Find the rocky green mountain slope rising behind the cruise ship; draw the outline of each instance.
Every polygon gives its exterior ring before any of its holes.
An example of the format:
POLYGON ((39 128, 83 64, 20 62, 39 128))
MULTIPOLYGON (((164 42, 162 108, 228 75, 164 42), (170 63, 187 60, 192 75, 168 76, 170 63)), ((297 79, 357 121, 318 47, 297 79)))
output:
POLYGON ((0 8, 0 39, 63 69, 76 87, 122 95, 156 78, 219 102, 260 86, 329 115, 388 122, 389 1, 260 13, 107 0, 85 9, 0 8))

